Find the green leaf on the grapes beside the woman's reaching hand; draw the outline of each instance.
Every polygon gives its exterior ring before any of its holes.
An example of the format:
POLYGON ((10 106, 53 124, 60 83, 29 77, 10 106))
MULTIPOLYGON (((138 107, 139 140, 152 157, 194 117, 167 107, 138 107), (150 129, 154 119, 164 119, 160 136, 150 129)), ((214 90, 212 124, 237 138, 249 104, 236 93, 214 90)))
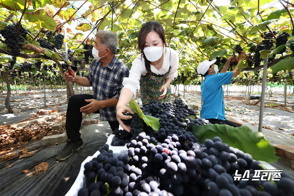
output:
POLYGON ((153 128, 153 130, 158 131, 159 129, 159 119, 153 116, 145 115, 141 110, 140 106, 135 102, 134 98, 131 99, 129 107, 137 113, 138 116, 144 120, 144 122, 153 128))

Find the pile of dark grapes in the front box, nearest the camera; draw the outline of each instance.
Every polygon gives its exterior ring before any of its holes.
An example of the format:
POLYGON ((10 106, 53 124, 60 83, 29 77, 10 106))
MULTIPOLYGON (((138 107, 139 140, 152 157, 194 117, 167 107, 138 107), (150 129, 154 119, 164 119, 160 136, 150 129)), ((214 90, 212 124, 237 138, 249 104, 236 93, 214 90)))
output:
POLYGON ((118 157, 108 144, 100 147, 100 154, 84 165, 86 187, 78 196, 294 194, 294 182, 287 172, 281 172, 274 183, 254 177, 254 170, 263 170, 262 165, 219 137, 204 144, 189 142, 189 148, 176 135, 167 136, 164 142, 150 143, 149 138, 139 133, 127 144, 128 153, 118 157), (246 171, 248 178, 243 178, 246 171))

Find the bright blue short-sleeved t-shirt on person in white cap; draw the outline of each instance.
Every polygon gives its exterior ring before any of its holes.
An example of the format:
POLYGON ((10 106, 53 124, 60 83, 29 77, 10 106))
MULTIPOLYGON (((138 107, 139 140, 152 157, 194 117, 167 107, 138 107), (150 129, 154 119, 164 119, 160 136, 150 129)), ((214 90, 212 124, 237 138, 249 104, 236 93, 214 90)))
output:
POLYGON ((202 108, 201 118, 216 118, 226 120, 224 113, 224 91, 223 84, 232 82, 233 72, 206 75, 201 84, 202 108))

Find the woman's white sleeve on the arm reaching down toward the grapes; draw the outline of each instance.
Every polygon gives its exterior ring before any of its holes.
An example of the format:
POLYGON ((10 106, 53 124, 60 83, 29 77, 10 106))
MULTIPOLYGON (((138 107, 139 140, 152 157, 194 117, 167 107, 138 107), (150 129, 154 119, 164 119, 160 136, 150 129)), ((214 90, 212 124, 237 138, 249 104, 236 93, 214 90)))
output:
POLYGON ((141 59, 136 58, 132 63, 129 77, 123 79, 123 88, 130 89, 133 92, 134 96, 136 95, 137 88, 140 84, 140 78, 143 74, 144 68, 141 59))

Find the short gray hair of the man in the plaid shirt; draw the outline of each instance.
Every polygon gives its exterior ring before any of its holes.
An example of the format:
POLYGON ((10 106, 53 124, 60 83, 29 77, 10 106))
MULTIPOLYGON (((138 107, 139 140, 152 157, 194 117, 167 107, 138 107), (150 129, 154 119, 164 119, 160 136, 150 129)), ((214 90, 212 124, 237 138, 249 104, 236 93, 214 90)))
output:
POLYGON ((115 55, 117 51, 117 46, 119 45, 119 38, 112 31, 98 31, 95 37, 100 39, 100 43, 110 49, 111 54, 115 55))

